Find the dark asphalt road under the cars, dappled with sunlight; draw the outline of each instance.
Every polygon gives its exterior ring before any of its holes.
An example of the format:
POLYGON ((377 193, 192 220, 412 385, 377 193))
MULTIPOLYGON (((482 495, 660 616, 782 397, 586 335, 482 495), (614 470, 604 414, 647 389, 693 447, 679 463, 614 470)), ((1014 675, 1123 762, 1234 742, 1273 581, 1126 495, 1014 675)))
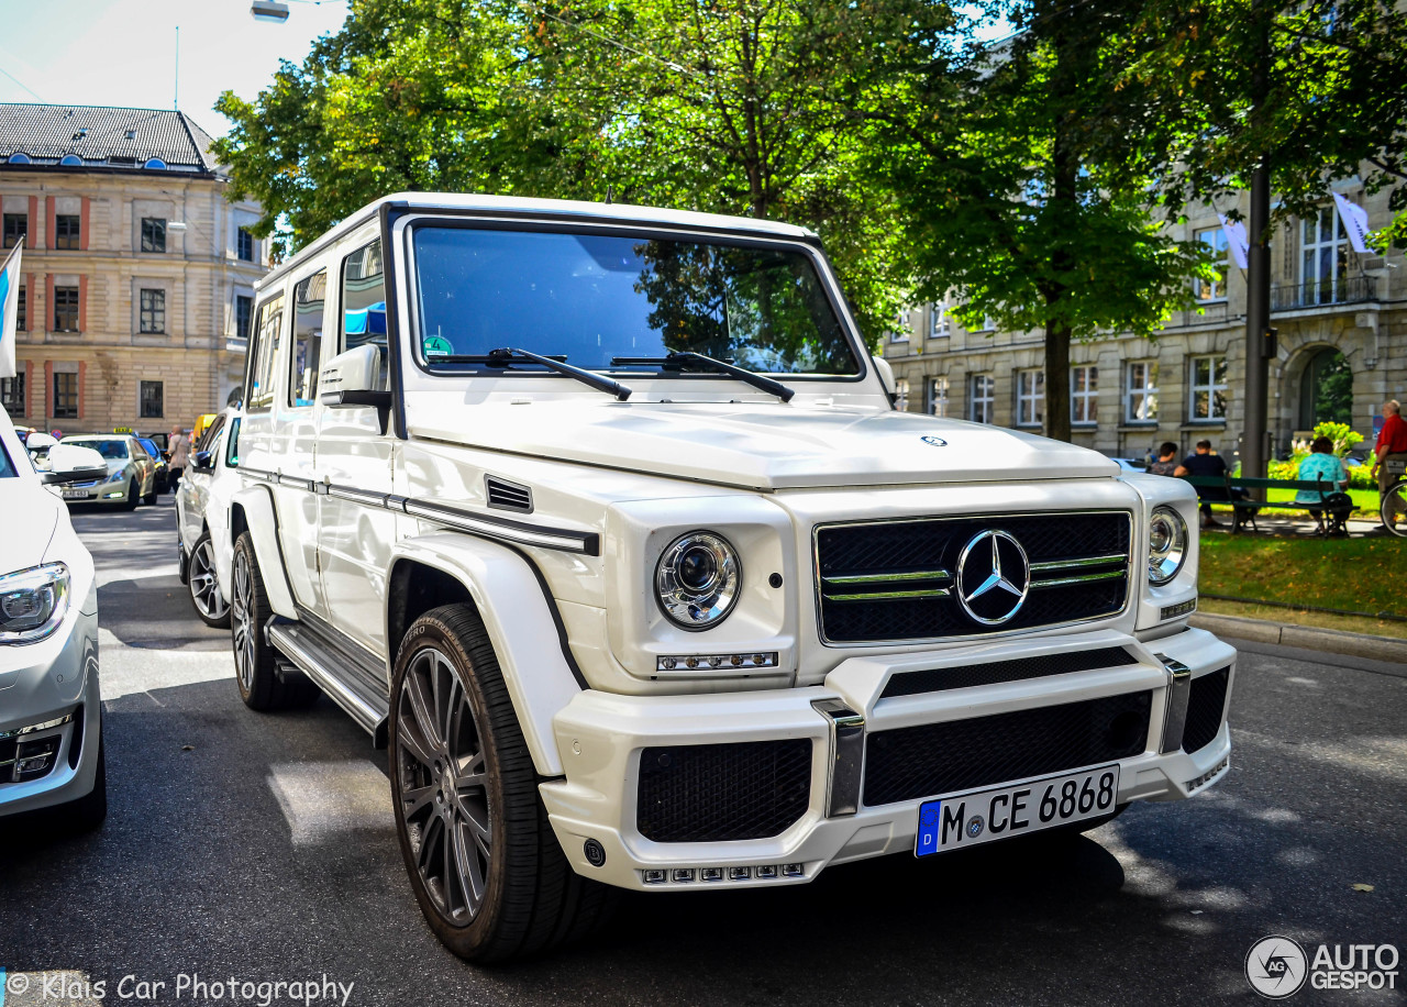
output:
MULTIPOLYGON (((241 705, 228 631, 176 579, 170 498, 75 520, 100 568, 111 812, 76 838, 0 824, 0 968, 32 980, 10 1007, 260 1003, 193 996, 182 975, 325 975, 353 984, 348 1004, 395 1007, 1258 1003, 1244 959, 1269 934, 1407 954, 1407 669, 1245 650, 1233 768, 1190 802, 1055 848, 628 896, 588 944, 474 968, 421 920, 366 734, 325 699, 241 705), (58 970, 73 996, 38 996, 58 970), (120 999, 139 980, 166 986, 120 999)), ((1397 984, 1290 1003, 1403 1003, 1397 984)))

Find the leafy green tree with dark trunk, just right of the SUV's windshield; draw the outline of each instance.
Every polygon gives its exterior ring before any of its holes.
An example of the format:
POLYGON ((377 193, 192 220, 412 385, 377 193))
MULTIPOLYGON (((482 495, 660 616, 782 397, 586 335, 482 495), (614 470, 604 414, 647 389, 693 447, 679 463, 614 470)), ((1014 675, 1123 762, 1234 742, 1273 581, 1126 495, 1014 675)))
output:
POLYGON ((976 328, 1044 332, 1047 436, 1069 439, 1069 347, 1152 335, 1190 304, 1203 253, 1173 240, 1157 200, 1168 122, 1128 80, 1127 0, 988 4, 1016 34, 937 48, 872 100, 871 169, 906 221, 916 293, 962 301, 976 328))

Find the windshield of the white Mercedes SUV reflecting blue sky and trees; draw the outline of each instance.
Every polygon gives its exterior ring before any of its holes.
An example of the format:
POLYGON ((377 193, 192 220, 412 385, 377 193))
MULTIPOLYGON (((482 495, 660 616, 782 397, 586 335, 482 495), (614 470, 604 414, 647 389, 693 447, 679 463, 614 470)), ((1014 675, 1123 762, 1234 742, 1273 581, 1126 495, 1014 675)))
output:
POLYGON ((419 359, 433 370, 464 370, 445 357, 519 347, 591 370, 689 350, 771 374, 860 373, 801 250, 438 226, 414 235, 419 359))

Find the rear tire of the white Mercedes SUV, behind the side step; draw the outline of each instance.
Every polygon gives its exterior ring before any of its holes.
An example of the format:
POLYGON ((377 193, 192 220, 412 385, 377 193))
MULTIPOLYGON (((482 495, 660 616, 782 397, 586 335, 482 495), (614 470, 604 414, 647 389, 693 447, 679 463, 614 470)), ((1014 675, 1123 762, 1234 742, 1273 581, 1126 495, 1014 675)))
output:
POLYGON ((235 647, 235 685, 250 710, 301 707, 318 698, 318 686, 303 675, 279 674, 279 651, 265 640, 263 627, 273 616, 265 594, 255 540, 241 533, 232 564, 229 637, 235 647))

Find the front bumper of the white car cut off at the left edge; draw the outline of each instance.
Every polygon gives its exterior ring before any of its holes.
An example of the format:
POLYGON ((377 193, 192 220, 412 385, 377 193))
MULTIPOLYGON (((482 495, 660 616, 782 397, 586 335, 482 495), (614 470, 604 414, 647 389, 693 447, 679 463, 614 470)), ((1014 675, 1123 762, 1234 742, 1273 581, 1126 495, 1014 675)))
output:
POLYGON ((101 731, 97 610, 75 605, 55 633, 0 648, 0 819, 93 792, 101 731), (39 724, 51 724, 31 730, 39 724), (58 741, 46 768, 17 779, 17 761, 58 741))

